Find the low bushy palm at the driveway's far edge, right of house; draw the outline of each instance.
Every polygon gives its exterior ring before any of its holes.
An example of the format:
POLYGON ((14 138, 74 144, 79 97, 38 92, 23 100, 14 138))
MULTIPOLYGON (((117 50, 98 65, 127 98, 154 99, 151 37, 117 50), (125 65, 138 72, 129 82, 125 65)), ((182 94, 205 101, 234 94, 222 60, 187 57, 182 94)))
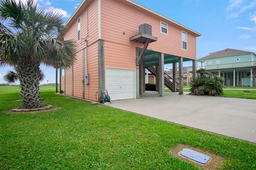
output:
POLYGON ((217 75, 211 76, 205 69, 198 70, 198 77, 191 81, 191 94, 217 96, 222 94, 224 79, 217 75))

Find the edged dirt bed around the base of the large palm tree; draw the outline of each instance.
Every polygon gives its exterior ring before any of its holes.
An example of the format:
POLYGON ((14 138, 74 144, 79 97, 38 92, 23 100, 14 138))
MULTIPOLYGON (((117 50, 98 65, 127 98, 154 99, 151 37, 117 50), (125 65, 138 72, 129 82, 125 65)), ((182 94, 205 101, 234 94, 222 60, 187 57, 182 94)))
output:
POLYGON ((52 105, 42 105, 40 108, 34 109, 26 109, 21 107, 16 107, 7 111, 8 114, 18 114, 18 113, 38 113, 38 112, 46 112, 46 111, 55 111, 58 110, 59 107, 52 105))

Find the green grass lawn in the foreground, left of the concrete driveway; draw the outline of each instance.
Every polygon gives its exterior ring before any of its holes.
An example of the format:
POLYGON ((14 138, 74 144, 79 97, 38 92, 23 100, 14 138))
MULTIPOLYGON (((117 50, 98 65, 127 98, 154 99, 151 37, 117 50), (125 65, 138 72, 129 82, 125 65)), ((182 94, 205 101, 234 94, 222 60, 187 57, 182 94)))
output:
POLYGON ((199 169, 170 156, 179 143, 226 159, 222 169, 256 169, 256 145, 54 94, 56 111, 6 114, 19 88, 0 87, 0 169, 199 169))

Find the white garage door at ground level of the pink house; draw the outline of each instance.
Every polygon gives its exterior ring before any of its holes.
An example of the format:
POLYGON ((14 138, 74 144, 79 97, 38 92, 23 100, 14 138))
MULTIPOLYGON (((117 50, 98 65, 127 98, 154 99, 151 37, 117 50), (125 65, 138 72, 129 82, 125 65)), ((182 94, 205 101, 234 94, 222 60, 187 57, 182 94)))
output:
POLYGON ((133 99, 135 95, 135 71, 106 69, 106 89, 111 100, 133 99))

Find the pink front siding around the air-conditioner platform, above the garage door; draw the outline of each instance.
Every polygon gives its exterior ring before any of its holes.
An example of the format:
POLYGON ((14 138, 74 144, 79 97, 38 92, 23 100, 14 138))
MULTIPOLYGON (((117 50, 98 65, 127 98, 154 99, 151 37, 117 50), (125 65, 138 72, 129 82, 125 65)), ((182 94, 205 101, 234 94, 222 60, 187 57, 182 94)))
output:
POLYGON ((153 36, 158 41, 148 49, 186 58, 196 59, 196 34, 167 21, 156 14, 143 10, 125 0, 101 1, 101 38, 105 42, 105 64, 111 67, 135 69, 135 47, 130 37, 137 35, 139 25, 148 23, 153 27, 153 36), (168 24, 168 35, 160 32, 160 21, 168 24), (181 48, 181 31, 188 33, 188 50, 181 48), (123 35, 125 32, 125 35, 123 35), (113 60, 115 58, 115 60, 113 60))

